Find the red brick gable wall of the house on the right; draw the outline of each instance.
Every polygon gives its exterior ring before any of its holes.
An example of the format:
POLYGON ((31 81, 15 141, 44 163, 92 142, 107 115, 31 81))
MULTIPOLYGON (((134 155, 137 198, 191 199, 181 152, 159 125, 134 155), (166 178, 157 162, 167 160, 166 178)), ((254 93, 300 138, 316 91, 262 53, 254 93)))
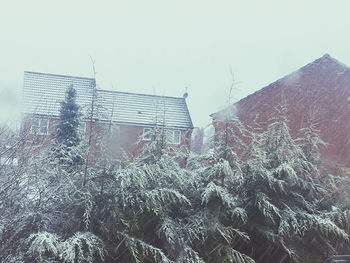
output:
POLYGON ((321 150, 322 161, 350 168, 350 68, 325 54, 231 107, 243 123, 254 126, 257 120, 266 128, 282 97, 288 105, 291 135, 296 138, 313 114, 320 137, 328 143, 321 150))

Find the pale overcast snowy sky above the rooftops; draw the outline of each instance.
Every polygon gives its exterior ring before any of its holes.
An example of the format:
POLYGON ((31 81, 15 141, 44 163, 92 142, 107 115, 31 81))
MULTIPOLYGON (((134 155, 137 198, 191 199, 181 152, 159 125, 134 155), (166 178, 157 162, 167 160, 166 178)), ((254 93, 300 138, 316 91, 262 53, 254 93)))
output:
POLYGON ((182 96, 195 126, 329 53, 350 65, 349 0, 12 0, 0 8, 0 120, 23 71, 92 76, 101 89, 182 96))

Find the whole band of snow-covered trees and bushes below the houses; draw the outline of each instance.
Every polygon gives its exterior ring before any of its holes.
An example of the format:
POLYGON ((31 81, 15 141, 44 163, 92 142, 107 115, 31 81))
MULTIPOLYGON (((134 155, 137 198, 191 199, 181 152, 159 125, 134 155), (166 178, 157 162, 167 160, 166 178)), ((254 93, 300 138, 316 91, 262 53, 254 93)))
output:
POLYGON ((316 129, 293 139, 284 112, 266 131, 229 115, 203 155, 155 129, 118 169, 102 150, 84 165, 84 147, 23 146, 0 169, 0 261, 324 262, 348 244, 346 184, 322 176, 316 129))

